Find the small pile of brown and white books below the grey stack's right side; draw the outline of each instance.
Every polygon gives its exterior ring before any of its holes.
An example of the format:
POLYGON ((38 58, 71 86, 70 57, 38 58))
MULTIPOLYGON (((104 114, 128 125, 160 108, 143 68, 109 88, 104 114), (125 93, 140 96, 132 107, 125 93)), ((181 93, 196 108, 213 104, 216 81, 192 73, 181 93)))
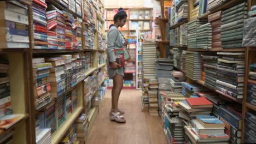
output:
POLYGON ((171 90, 173 92, 182 92, 182 82, 187 79, 182 71, 172 71, 171 73, 171 90))

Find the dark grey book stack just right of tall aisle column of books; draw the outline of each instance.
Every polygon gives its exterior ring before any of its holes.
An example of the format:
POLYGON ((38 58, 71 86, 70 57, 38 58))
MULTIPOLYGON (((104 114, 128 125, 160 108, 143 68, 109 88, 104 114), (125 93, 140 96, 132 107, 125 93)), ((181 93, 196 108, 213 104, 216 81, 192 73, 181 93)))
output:
MULTIPOLYGON (((144 57, 144 56, 143 56, 144 57)), ((170 77, 173 69, 173 61, 168 58, 156 59, 156 77, 170 77)))

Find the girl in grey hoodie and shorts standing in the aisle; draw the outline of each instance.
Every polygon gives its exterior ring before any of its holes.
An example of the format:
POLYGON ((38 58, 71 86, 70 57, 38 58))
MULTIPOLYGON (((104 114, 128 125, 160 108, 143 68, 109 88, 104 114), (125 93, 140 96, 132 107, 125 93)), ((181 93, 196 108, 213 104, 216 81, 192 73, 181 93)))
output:
POLYGON ((124 116, 121 116, 125 112, 118 109, 119 95, 123 88, 124 67, 120 67, 121 65, 115 62, 114 49, 120 49, 124 45, 127 45, 127 41, 123 39, 123 35, 118 30, 118 27, 123 27, 125 25, 126 19, 127 14, 123 8, 118 9, 118 13, 114 16, 114 25, 109 26, 108 32, 108 76, 109 79, 113 79, 114 82, 112 88, 112 109, 110 110, 109 117, 111 121, 120 123, 126 122, 124 116), (111 67, 109 67, 110 63, 111 67))

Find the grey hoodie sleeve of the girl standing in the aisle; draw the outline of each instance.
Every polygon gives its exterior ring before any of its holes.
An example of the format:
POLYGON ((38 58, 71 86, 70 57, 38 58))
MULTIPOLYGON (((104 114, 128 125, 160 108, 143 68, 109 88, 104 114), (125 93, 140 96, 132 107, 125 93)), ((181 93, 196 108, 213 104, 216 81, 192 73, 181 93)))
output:
POLYGON ((109 31, 108 33, 108 56, 109 56, 109 62, 115 62, 115 53, 114 53, 114 45, 118 38, 118 30, 113 29, 112 31, 109 31))

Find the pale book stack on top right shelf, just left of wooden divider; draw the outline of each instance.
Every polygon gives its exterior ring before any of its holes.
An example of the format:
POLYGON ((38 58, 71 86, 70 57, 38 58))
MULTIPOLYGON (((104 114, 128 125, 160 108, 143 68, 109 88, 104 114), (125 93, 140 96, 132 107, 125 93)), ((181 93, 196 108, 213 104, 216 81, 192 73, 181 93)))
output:
POLYGON ((176 9, 178 9, 178 22, 183 21, 188 18, 188 1, 187 0, 179 0, 176 4, 176 9))

